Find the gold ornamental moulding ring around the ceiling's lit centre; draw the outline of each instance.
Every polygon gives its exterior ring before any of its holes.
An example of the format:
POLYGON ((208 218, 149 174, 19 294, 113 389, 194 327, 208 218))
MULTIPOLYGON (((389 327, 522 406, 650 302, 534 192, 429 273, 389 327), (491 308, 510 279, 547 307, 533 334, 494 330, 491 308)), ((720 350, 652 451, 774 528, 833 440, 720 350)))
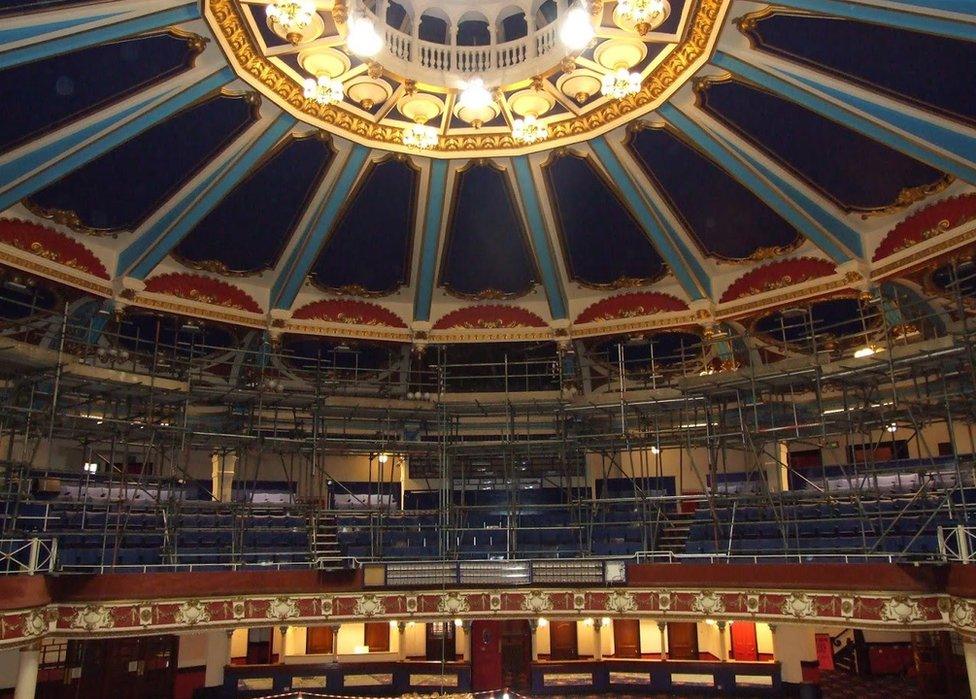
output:
MULTIPOLYGON (((238 76, 295 117, 367 146, 412 152, 403 145, 402 128, 378 123, 343 105, 320 105, 306 99, 303 88, 264 55, 251 35, 239 0, 204 0, 204 16, 217 43, 238 76)), ((527 146, 510 132, 441 134, 425 155, 462 158, 479 155, 520 155, 548 150, 606 133, 668 99, 704 65, 718 39, 730 0, 697 0, 682 40, 674 45, 645 78, 640 92, 622 100, 550 124, 550 138, 527 146)))

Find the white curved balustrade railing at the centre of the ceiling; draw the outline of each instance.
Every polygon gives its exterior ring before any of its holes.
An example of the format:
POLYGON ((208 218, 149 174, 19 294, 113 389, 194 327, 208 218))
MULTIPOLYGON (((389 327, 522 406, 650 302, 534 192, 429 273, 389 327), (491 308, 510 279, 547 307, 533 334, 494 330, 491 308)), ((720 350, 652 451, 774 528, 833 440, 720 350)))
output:
POLYGON ((551 22, 520 39, 487 46, 450 46, 423 41, 371 17, 383 26, 384 47, 390 67, 407 77, 424 79, 443 73, 459 78, 478 75, 487 82, 508 82, 510 71, 519 78, 533 75, 558 63, 568 55, 557 38, 557 25, 551 22))

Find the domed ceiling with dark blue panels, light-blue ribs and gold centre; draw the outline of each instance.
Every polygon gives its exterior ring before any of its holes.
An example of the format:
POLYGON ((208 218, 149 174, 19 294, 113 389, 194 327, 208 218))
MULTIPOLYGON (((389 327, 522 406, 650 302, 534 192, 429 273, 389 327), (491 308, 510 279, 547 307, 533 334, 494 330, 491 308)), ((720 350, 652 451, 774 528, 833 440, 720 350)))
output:
POLYGON ((0 263, 273 334, 772 337, 976 238, 968 3, 268 5, 0 2, 0 263))

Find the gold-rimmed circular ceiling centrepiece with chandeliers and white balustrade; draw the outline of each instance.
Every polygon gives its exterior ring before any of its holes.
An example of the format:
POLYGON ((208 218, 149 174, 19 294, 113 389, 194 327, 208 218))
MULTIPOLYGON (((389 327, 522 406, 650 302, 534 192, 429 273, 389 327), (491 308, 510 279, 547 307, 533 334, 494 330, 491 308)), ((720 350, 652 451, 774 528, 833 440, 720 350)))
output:
POLYGON ((620 0, 614 13, 595 0, 558 3, 555 17, 538 26, 529 0, 502 10, 498 2, 404 0, 396 26, 386 21, 390 1, 203 0, 238 75, 287 111, 356 142, 390 150, 422 143, 439 157, 568 145, 650 111, 705 63, 729 2, 699 0, 674 31, 647 44, 643 20, 659 26, 670 12, 666 0, 620 0), (506 36, 502 15, 516 11, 532 21, 506 36), (442 43, 420 39, 428 12, 446 17, 442 43), (459 42, 472 18, 490 29, 459 42), (620 22, 630 22, 630 36, 620 22))

